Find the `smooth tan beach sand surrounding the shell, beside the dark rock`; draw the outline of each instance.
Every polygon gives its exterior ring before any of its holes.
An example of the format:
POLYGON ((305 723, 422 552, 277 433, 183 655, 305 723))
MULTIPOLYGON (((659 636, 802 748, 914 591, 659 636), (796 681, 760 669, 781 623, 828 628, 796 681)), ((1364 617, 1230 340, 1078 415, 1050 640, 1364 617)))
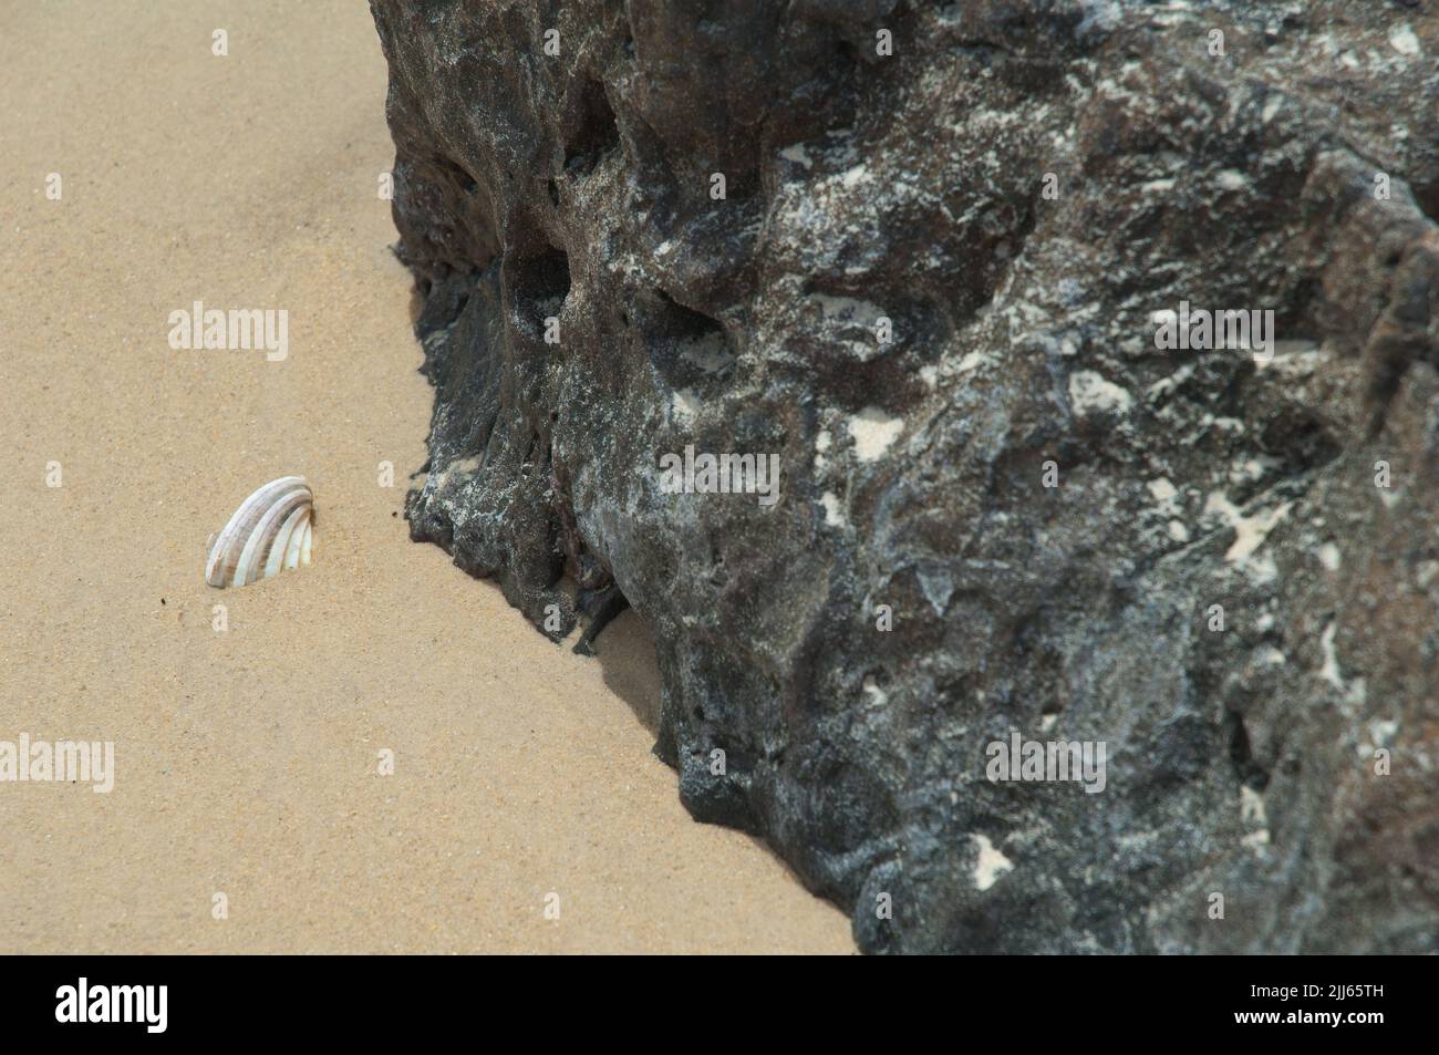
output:
POLYGON ((574 656, 409 541, 430 390, 367 7, 0 26, 0 741, 115 751, 109 793, 0 783, 0 951, 853 951, 681 807, 637 620, 574 656), (194 301, 286 309, 288 357, 171 348, 194 301), (204 586, 210 533, 285 474, 314 566, 204 586))

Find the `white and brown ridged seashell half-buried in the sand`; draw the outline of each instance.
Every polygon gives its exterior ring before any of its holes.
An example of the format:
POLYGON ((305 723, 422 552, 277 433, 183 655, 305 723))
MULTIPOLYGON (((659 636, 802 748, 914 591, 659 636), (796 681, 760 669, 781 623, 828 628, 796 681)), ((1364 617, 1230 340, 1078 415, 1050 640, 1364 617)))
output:
POLYGON ((240 502, 230 522, 210 535, 204 581, 248 586, 282 569, 309 564, 314 495, 304 476, 281 476, 240 502))

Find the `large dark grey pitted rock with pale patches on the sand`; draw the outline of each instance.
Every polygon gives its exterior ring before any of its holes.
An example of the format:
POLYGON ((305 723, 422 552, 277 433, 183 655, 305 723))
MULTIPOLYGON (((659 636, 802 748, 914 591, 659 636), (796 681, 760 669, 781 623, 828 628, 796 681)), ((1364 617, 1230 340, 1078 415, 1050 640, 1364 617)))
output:
POLYGON ((371 4, 412 533, 623 594, 696 818, 869 951, 1439 951, 1433 3, 371 4))

